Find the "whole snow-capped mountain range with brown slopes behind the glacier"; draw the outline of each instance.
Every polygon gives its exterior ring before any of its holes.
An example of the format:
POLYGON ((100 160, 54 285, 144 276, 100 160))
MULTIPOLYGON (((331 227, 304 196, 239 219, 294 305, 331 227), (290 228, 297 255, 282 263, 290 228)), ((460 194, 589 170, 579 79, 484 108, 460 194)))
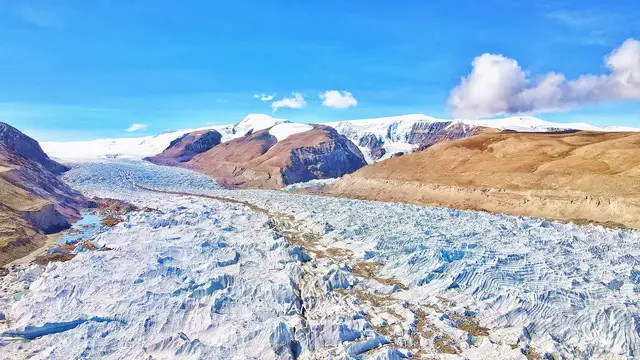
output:
MULTIPOLYGON (((144 159, 198 171, 228 188, 281 189, 341 178, 320 191, 637 227, 639 131, 525 116, 413 114, 301 124, 250 114, 229 125, 42 145, 66 162, 144 159)), ((66 169, 35 141, 22 142, 28 146, 20 149, 52 174, 66 169)))

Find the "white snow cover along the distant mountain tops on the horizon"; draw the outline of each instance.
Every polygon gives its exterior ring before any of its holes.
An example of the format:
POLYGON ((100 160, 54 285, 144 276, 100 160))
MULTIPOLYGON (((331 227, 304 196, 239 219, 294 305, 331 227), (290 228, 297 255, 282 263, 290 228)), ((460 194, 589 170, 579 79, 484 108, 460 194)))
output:
MULTIPOLYGON (((95 160, 106 158, 142 159, 162 152, 169 143, 196 130, 215 129, 222 134, 222 141, 229 141, 246 135, 248 132, 273 127, 274 125, 289 123, 288 120, 274 118, 266 114, 249 114, 235 124, 209 126, 197 129, 184 129, 161 133, 155 136, 139 138, 97 139, 76 142, 42 142, 44 151, 53 158, 66 161, 95 160)), ((328 122, 324 125, 334 127, 339 133, 358 145, 365 154, 367 161, 373 162, 388 158, 398 152, 411 152, 420 147, 419 143, 410 139, 416 134, 425 134, 432 127, 442 130, 444 127, 458 127, 456 131, 470 131, 474 127, 484 126, 500 130, 515 131, 558 131, 563 129, 592 130, 592 131, 640 131, 640 128, 607 127, 600 128, 586 123, 553 123, 530 116, 508 117, 492 120, 438 119, 424 114, 410 114, 362 120, 344 120, 328 122), (364 139, 364 140, 363 140, 364 139), (378 142, 384 149, 384 156, 373 156, 363 141, 378 142)), ((278 140, 283 140, 291 134, 307 131, 308 125, 291 124, 277 127, 271 132, 278 140)))

